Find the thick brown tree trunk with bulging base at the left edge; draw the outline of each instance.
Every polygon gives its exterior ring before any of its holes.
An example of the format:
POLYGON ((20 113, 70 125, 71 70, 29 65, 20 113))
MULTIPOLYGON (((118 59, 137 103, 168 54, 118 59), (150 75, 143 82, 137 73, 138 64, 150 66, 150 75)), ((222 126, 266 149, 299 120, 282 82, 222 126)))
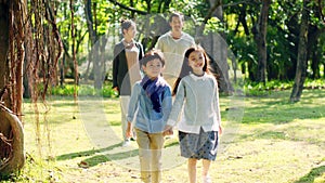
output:
POLYGON ((25 161, 23 127, 14 114, 22 114, 26 9, 25 1, 0 1, 0 175, 25 161))

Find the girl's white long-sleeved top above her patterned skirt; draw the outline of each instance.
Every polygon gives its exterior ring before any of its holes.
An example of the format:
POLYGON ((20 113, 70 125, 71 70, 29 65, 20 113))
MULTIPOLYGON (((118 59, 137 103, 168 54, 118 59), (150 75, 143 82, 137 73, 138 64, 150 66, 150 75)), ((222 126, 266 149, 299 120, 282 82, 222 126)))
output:
POLYGON ((182 78, 167 125, 178 125, 180 131, 187 133, 198 134, 200 128, 204 131, 218 131, 221 115, 216 78, 208 74, 190 74, 182 78))

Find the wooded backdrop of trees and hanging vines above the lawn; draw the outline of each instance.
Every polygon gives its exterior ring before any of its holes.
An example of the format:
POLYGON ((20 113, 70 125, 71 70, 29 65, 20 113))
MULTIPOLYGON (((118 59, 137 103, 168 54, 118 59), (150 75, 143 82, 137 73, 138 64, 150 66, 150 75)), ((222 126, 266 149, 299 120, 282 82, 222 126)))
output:
MULTIPOLYGON (((246 81, 295 81, 291 101, 296 102, 306 78, 325 78, 323 3, 322 0, 0 0, 3 27, 0 100, 21 117, 23 93, 29 91, 37 103, 51 87, 65 84, 67 77, 76 86, 82 78, 101 89, 103 81, 110 79, 109 61, 114 44, 121 38, 120 21, 135 21, 136 39, 147 51, 168 31, 168 14, 178 11, 185 15, 184 31, 209 50, 217 63, 214 71, 222 91, 233 90, 227 84, 227 69, 235 67, 246 81), (211 37, 212 34, 218 37, 211 37), (221 43, 212 44, 216 40, 221 43)), ((10 123, 3 123, 0 134, 10 136, 10 123)), ((4 154, 0 154, 1 159, 4 154)))

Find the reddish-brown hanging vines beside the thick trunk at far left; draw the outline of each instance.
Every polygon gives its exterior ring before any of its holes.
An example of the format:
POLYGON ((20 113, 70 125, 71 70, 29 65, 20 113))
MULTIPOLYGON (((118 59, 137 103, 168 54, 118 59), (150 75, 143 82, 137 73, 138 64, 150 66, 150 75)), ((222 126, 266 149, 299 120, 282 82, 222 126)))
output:
MULTIPOLYGON (((35 0, 30 2, 29 23, 32 31, 29 31, 28 43, 32 48, 27 61, 27 76, 29 90, 35 110, 35 128, 39 154, 41 155, 41 138, 40 138, 40 115, 38 108, 38 100, 44 104, 47 112, 49 107, 46 103, 48 90, 52 84, 57 82, 57 62, 62 53, 62 41, 55 24, 55 15, 53 8, 54 2, 48 0, 35 0)), ((30 30, 30 29, 29 29, 30 30)), ((47 143, 50 145, 50 129, 47 117, 43 119, 44 129, 47 131, 47 143)))

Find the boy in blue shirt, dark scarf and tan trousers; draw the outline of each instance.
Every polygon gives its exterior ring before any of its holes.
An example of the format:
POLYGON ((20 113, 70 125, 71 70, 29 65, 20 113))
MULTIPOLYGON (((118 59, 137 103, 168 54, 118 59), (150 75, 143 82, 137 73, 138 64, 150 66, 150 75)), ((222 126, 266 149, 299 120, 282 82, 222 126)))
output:
POLYGON ((135 118, 141 179, 145 183, 161 180, 161 148, 164 127, 171 110, 171 91, 161 77, 165 66, 162 53, 150 51, 141 60, 144 78, 133 87, 127 116, 127 136, 132 136, 131 121, 135 118), (138 114, 135 112, 138 110, 138 114), (136 116, 134 116, 134 114, 136 116))

